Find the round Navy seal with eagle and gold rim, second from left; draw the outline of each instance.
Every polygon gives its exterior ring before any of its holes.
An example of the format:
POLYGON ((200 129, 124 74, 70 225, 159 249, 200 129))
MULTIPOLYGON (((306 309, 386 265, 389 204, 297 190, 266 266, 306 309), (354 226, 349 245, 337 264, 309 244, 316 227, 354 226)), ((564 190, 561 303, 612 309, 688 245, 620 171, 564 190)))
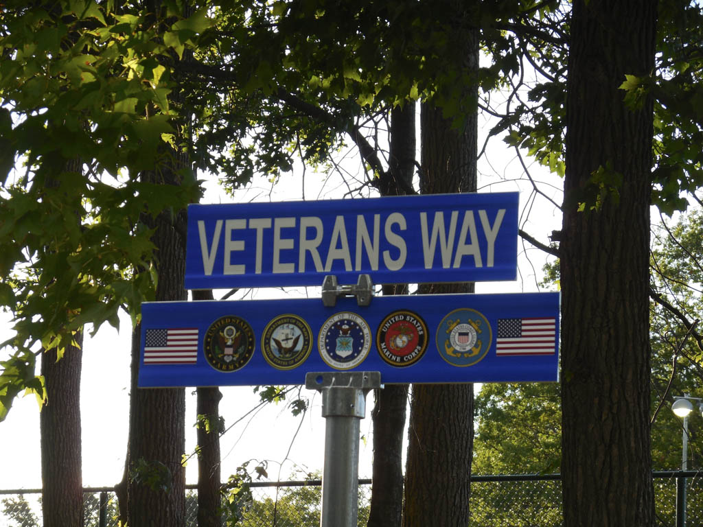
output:
POLYGON ((262 353, 278 370, 292 370, 305 362, 312 349, 312 332, 297 315, 280 315, 264 329, 262 353))

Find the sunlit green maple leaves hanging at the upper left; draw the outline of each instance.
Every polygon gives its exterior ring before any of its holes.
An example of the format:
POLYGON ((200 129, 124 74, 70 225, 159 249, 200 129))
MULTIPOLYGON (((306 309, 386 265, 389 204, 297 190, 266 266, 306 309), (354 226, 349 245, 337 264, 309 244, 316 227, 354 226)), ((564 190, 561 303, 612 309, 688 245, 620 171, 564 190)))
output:
POLYGON ((183 122, 169 106, 169 58, 209 26, 205 11, 178 16, 155 38, 151 13, 112 2, 8 1, 0 12, 0 306, 13 315, 11 356, 0 367, 0 420, 27 389, 44 398, 35 351, 58 355, 85 324, 133 319, 155 276, 142 214, 198 196, 192 171, 181 186, 142 181, 167 160, 164 142, 183 122), (65 171, 70 160, 82 170, 65 171))

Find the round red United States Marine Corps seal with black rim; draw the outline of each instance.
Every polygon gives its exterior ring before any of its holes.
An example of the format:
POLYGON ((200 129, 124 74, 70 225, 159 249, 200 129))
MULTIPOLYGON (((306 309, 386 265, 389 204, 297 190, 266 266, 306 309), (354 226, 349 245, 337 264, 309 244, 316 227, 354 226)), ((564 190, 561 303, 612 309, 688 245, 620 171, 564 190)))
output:
POLYGON ((415 364, 427 349, 425 320, 412 311, 394 311, 378 326, 376 347, 390 365, 415 364))

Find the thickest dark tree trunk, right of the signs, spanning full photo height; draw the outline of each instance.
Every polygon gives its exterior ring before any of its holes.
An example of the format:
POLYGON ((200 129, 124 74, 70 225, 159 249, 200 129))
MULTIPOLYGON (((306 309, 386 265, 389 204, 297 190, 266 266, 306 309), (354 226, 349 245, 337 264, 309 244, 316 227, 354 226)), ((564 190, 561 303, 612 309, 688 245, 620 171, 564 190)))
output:
POLYGON ((652 100, 627 108, 618 86, 625 74, 652 74, 656 25, 656 1, 574 1, 560 249, 567 527, 654 522, 647 292, 652 100), (604 182, 600 188, 594 174, 604 182))

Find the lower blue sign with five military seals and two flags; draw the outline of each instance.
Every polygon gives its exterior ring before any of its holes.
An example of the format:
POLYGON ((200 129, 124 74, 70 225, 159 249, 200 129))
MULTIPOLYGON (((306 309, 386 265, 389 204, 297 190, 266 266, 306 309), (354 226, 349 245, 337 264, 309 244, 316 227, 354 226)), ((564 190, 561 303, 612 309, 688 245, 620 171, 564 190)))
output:
POLYGON ((379 371, 384 383, 556 381, 559 293, 148 302, 138 384, 304 384, 379 371))

